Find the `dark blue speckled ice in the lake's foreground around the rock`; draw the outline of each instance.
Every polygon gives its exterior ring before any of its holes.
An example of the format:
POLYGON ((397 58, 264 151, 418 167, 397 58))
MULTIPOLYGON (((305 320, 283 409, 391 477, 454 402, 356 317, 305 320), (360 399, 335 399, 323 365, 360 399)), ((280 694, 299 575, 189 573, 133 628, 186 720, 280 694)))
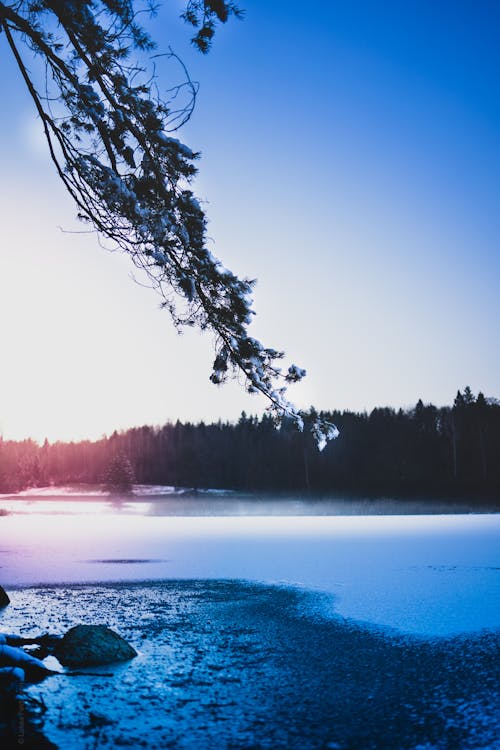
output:
POLYGON ((2 630, 28 637, 105 623, 139 652, 113 677, 57 676, 29 689, 61 748, 500 746, 498 631, 400 635, 324 618, 319 594, 241 581, 10 595, 2 630))

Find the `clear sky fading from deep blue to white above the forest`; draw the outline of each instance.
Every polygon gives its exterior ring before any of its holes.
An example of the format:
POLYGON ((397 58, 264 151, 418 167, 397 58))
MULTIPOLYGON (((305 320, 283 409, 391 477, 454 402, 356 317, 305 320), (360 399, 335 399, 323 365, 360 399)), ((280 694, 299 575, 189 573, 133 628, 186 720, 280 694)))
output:
MULTIPOLYGON (((153 23, 200 82, 214 254, 256 277, 253 335, 308 377, 300 406, 500 397, 500 6, 247 0, 202 57, 165 0, 153 23)), ((126 258, 82 229, 0 36, 0 432, 99 437, 236 419, 265 401, 208 381, 126 258)), ((161 71, 168 88, 175 68, 161 71)))

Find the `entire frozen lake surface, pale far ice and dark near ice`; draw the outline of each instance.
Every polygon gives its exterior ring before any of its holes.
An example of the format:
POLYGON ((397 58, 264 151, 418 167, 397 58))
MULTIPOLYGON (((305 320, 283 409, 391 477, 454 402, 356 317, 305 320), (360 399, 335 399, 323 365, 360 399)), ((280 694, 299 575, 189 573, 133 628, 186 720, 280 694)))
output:
POLYGON ((500 515, 154 493, 2 508, 0 630, 103 623, 138 652, 29 688, 59 748, 500 750, 500 515))

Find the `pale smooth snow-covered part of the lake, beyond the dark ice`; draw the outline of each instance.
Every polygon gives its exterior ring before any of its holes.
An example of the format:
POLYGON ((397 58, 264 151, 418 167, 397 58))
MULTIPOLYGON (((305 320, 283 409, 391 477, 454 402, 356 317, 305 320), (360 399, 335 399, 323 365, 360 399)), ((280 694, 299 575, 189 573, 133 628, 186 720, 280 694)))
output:
POLYGON ((500 627, 500 515, 160 516, 147 503, 124 512, 99 497, 8 507, 15 512, 0 518, 7 589, 245 580, 318 592, 311 606, 327 617, 401 633, 500 627))

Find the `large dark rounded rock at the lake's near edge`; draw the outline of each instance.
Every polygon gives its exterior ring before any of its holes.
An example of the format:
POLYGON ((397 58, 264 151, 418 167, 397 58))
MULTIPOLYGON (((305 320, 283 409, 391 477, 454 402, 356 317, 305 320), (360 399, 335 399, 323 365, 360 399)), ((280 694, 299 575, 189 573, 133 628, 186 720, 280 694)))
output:
POLYGON ((127 661, 137 651, 105 625, 77 625, 59 641, 54 654, 65 667, 87 667, 127 661))

